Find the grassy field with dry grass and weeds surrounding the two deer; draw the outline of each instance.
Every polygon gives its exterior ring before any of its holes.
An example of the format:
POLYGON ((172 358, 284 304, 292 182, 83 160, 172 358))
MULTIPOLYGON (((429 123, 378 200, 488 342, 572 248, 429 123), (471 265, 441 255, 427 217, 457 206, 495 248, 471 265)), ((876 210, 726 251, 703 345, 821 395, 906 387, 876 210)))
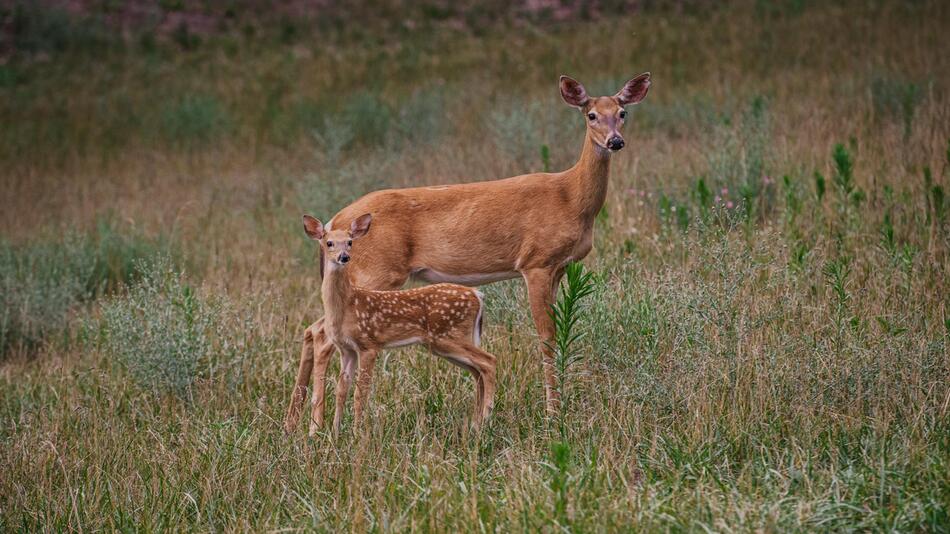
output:
POLYGON ((950 531, 950 5, 679 6, 5 60, 0 530, 950 531), (512 281, 481 433, 402 349, 285 436, 301 213, 565 168, 557 76, 647 70, 563 420, 512 281))

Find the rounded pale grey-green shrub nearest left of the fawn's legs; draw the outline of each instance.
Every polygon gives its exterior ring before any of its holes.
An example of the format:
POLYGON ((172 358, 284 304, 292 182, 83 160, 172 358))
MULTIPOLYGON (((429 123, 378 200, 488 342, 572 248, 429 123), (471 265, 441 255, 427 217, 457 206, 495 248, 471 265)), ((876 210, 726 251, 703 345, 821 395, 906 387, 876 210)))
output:
POLYGON ((227 298, 190 285, 167 259, 102 310, 102 350, 144 389, 188 396, 195 380, 240 368, 251 328, 227 298))

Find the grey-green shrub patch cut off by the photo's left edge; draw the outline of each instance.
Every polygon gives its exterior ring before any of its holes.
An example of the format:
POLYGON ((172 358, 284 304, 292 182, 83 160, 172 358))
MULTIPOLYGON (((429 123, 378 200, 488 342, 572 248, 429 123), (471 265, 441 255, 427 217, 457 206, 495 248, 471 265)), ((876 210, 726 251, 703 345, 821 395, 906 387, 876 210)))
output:
POLYGON ((55 240, 0 242, 0 354, 66 332, 72 310, 135 280, 137 262, 165 249, 163 239, 122 233, 109 221, 55 240))

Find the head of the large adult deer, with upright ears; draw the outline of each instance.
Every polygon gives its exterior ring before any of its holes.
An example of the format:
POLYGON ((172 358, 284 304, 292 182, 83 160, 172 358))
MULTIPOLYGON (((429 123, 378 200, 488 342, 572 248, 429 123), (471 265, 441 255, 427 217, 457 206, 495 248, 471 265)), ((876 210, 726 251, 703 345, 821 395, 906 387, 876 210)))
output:
POLYGON ((587 90, 574 78, 561 76, 561 98, 580 109, 587 121, 587 133, 601 148, 616 152, 623 148, 620 134, 627 111, 624 106, 636 104, 647 96, 650 73, 644 72, 625 83, 614 96, 588 96, 587 90))

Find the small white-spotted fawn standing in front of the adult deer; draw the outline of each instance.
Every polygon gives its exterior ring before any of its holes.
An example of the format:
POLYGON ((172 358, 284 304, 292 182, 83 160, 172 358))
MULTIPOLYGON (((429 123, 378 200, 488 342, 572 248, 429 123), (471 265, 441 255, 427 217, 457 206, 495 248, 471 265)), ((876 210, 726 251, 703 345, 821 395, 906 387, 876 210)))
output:
MULTIPOLYGON (((369 232, 371 222, 372 215, 365 214, 354 219, 349 230, 328 230, 319 220, 309 215, 303 217, 304 230, 311 239, 320 242, 326 262, 322 286, 323 332, 327 342, 343 355, 336 389, 334 436, 340 430, 355 367, 359 366, 359 377, 353 415, 358 423, 379 351, 414 344, 425 345, 475 376, 472 421, 478 427, 488 417, 495 394, 495 357, 478 348, 484 307, 481 293, 455 284, 401 291, 373 291, 354 286, 347 276, 346 265, 354 254, 353 241, 369 232)), ((372 255, 373 249, 365 248, 360 253, 372 255)), ((306 343, 307 340, 305 351, 306 343)), ((312 338, 310 343, 312 345, 312 338)), ((321 374, 325 372, 324 368, 321 374)), ((299 382, 298 376, 298 390, 299 382)), ((322 384, 314 384, 315 408, 317 403, 323 402, 318 389, 322 391, 322 384)), ((322 423, 322 406, 320 414, 320 421, 311 420, 311 434, 322 423)))

